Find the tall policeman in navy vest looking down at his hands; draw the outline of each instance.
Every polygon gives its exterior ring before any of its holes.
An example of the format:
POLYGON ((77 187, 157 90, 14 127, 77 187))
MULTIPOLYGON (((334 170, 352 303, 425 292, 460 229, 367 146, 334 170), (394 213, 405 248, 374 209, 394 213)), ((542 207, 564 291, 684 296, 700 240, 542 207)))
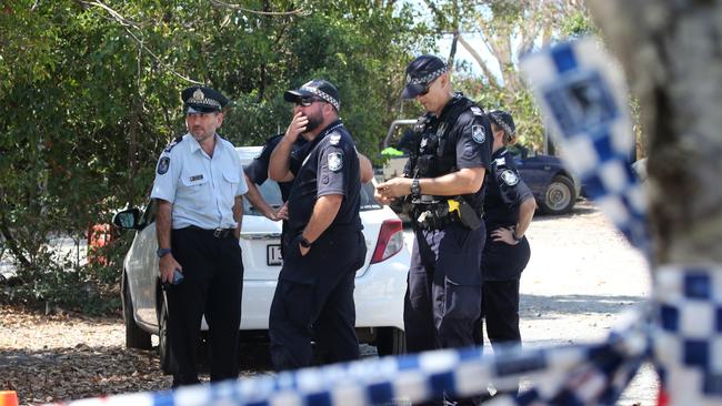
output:
POLYGON ((481 309, 489 119, 453 92, 445 63, 434 55, 409 63, 402 97, 418 100, 428 113, 417 123, 405 176, 379 184, 375 195, 383 203, 410 195, 413 205, 415 241, 403 315, 407 349, 471 346, 481 309))

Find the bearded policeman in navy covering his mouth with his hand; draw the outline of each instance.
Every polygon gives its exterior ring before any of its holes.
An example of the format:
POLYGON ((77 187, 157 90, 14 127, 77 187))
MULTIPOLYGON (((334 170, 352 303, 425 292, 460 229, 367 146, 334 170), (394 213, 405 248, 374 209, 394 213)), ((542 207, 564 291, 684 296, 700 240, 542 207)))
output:
POLYGON ((295 103, 294 115, 271 154, 269 174, 275 181, 294 179, 288 201, 292 238, 269 329, 273 366, 293 369, 311 364, 314 329, 332 361, 359 357, 353 287, 365 243, 359 216, 359 159, 339 120, 338 90, 317 79, 285 92, 284 99, 295 103), (299 136, 308 145, 293 175, 290 156, 299 136))

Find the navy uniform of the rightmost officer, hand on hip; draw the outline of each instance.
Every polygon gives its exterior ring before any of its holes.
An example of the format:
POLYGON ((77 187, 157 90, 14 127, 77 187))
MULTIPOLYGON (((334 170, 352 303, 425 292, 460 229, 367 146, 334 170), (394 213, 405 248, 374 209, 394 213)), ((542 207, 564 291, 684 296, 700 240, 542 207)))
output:
MULTIPOLYGON (((515 226, 521 203, 533 199, 533 195, 519 176, 517 164, 507 148, 493 153, 491 170, 484 183, 484 222, 488 232, 515 226)), ((517 245, 493 241, 487 236, 481 261, 482 316, 487 322, 487 335, 492 344, 521 343, 519 280, 530 256, 527 236, 522 236, 517 245)), ((479 342, 481 337, 480 335, 479 342)))

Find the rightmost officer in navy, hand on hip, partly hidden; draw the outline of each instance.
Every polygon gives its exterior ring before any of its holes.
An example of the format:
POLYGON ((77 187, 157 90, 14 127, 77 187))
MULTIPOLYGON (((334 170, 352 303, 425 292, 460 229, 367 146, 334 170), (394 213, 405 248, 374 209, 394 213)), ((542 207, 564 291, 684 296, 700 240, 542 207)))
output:
POLYGON ((537 210, 534 195, 519 176, 507 150, 517 138, 511 114, 489 113, 493 133, 491 170, 487 175, 484 222, 487 243, 481 261, 482 315, 492 345, 521 343, 519 332, 519 280, 531 250, 524 236, 537 210))

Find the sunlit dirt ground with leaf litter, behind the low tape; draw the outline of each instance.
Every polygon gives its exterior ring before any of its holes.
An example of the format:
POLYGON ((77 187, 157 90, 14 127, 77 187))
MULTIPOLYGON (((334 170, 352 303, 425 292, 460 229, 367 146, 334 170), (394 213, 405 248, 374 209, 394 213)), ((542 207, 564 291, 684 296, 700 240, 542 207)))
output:
MULTIPOLYGON (((528 236, 532 258, 521 281, 528 347, 602 339, 619 312, 650 293, 643 257, 585 201, 570 215, 538 216, 528 236)), ((17 390, 21 404, 40 404, 170 386, 154 352, 128 351, 123 343, 120 318, 0 307, 0 390, 17 390)), ((242 353, 242 375, 268 371, 262 349, 243 347, 242 353)), ((374 348, 363 353, 374 356, 374 348)), ((648 367, 619 404, 654 405, 655 392, 648 367)))

